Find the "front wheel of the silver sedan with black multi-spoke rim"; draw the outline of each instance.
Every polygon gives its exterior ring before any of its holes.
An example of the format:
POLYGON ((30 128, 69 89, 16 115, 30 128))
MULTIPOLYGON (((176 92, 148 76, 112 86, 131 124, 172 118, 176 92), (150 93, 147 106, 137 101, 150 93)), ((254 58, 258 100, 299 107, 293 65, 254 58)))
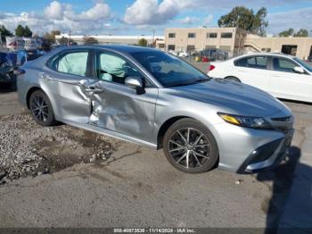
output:
POLYGON ((212 133, 199 121, 189 118, 169 127, 163 138, 163 150, 171 165, 188 173, 210 171, 218 162, 218 145, 212 133), (188 132, 189 144, 186 144, 188 132))

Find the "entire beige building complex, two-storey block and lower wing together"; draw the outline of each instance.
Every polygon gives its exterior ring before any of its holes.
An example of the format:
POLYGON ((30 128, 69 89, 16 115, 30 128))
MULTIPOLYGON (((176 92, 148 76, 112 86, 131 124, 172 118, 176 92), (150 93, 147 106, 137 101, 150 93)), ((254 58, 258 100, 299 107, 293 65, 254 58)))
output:
POLYGON ((173 51, 219 48, 229 52, 230 56, 275 52, 307 59, 312 55, 312 38, 265 38, 236 28, 166 29, 165 48, 173 51))

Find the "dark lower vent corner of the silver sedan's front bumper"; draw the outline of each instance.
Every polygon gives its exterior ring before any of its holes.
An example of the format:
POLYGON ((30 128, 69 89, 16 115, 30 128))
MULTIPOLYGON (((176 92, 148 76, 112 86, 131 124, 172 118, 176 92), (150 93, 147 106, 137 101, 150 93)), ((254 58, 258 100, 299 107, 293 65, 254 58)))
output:
POLYGON ((293 130, 288 130, 284 138, 271 141, 253 150, 247 159, 242 163, 237 173, 254 173, 264 169, 272 169, 279 165, 288 148, 291 146, 293 130))

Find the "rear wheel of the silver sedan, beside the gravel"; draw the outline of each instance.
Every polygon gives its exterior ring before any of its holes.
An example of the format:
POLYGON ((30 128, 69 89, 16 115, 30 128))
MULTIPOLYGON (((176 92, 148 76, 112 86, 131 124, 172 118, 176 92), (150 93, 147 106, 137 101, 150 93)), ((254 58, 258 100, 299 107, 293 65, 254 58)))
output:
POLYGON ((41 126, 53 126, 57 123, 52 104, 43 91, 37 90, 30 95, 29 109, 35 121, 41 126))

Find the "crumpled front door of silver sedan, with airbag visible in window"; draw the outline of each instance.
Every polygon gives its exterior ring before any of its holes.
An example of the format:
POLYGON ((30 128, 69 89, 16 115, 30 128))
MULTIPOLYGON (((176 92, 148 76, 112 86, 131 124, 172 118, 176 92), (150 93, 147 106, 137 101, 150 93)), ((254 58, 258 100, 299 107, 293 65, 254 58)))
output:
POLYGON ((151 141, 158 88, 126 58, 103 50, 94 53, 94 74, 90 124, 151 141), (125 85, 127 78, 143 80, 144 92, 125 85))

